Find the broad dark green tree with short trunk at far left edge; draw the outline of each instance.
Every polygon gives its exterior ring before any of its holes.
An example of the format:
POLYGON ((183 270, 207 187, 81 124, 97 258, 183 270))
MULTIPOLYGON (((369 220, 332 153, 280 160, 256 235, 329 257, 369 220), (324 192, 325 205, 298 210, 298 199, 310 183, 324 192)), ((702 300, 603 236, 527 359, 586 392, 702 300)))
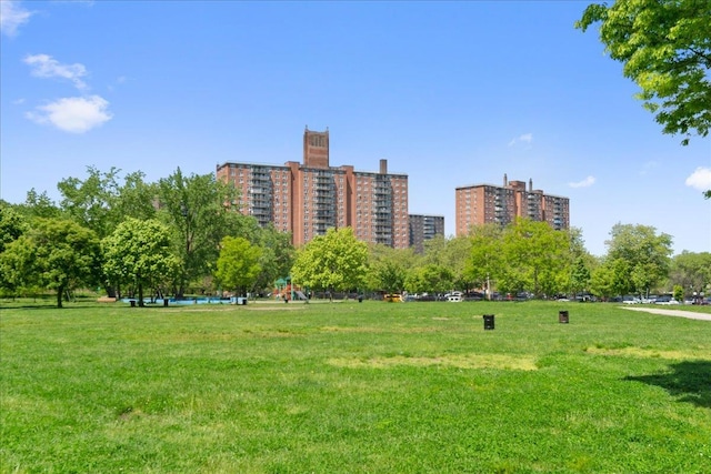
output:
POLYGON ((96 233, 73 221, 37 219, 32 229, 2 253, 3 268, 16 284, 37 284, 57 291, 57 307, 64 293, 100 280, 100 246, 96 233))

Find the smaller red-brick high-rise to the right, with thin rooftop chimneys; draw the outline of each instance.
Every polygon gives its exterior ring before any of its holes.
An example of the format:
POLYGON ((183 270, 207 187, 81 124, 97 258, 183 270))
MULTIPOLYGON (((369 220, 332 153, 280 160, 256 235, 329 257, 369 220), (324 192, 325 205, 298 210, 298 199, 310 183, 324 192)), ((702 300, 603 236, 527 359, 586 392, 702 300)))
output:
POLYGON ((570 228, 570 200, 533 190, 529 180, 508 181, 503 185, 474 184, 455 189, 457 235, 465 235, 472 225, 498 223, 505 225, 518 218, 548 222, 553 229, 570 228))

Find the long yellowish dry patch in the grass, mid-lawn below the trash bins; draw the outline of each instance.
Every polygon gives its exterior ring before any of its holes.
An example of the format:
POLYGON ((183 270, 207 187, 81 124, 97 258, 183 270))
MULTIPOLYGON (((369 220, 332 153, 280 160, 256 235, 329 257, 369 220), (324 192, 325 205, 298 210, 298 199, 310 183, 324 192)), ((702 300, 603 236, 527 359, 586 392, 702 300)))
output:
POLYGON ((399 365, 409 366, 445 366, 457 369, 499 369, 513 371, 535 371, 535 359, 520 355, 502 354, 460 354, 440 355, 434 357, 407 357, 395 355, 392 357, 371 359, 330 359, 329 364, 338 367, 350 369, 388 369, 399 365))

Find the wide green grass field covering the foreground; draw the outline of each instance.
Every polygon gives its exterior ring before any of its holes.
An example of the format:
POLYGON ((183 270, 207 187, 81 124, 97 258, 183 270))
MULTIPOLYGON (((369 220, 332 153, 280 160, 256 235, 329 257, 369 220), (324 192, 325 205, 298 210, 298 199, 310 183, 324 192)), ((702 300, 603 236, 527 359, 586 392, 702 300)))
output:
POLYGON ((711 322, 610 304, 4 302, 0 356, 2 473, 711 473, 711 322))

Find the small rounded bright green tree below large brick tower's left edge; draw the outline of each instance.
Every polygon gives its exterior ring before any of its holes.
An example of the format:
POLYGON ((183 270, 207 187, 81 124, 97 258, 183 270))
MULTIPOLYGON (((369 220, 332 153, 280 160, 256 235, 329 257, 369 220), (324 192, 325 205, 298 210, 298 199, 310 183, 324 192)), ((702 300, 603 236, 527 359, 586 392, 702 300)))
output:
POLYGON ((220 244, 216 279, 223 288, 246 294, 261 272, 261 254, 262 250, 247 239, 226 236, 220 244))

